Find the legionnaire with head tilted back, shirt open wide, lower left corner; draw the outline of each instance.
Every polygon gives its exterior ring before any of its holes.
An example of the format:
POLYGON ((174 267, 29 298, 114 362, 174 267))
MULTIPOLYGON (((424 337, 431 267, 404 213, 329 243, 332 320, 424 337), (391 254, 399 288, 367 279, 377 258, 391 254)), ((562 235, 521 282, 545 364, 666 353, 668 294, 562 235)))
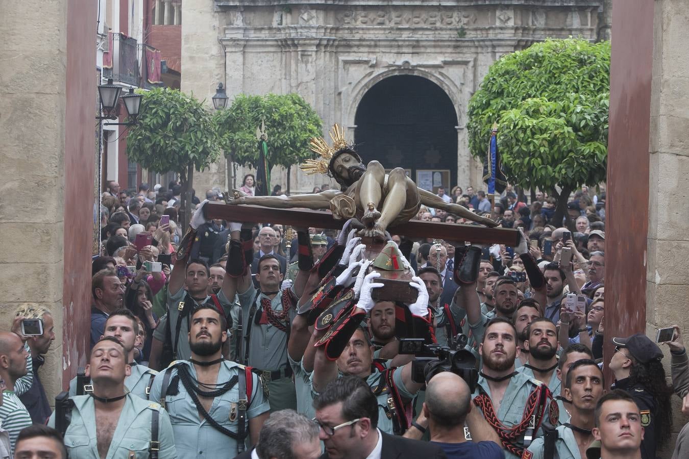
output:
MULTIPOLYGON (((105 337, 94 345, 86 367, 93 390, 72 398, 71 420, 64 431, 71 459, 149 458, 150 453, 158 459, 177 457, 167 412, 128 393, 124 382, 129 374, 120 341, 105 337)), ((55 417, 50 416, 50 427, 55 427, 55 417)))

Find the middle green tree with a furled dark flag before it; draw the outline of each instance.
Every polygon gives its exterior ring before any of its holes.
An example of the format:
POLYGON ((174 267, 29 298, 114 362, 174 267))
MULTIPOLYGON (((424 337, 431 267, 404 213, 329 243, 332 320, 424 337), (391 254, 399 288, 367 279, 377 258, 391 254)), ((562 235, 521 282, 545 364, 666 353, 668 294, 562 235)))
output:
MULTIPOLYGON (((214 116, 220 145, 228 160, 228 175, 231 161, 256 167, 256 127, 265 121, 269 163, 287 168, 288 192, 291 167, 313 157, 309 139, 322 135, 320 117, 298 94, 240 94, 228 109, 219 110, 214 116)), ((232 183, 231 178, 228 181, 232 183)))

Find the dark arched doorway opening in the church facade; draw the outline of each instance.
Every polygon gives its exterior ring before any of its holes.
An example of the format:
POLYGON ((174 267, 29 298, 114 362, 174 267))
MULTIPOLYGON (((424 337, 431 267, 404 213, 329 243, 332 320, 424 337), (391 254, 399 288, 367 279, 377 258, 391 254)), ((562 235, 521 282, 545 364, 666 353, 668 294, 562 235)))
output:
MULTIPOLYGON (((418 171, 426 171, 426 177, 428 171, 449 171, 449 178, 440 175, 447 193, 456 184, 457 112, 432 81, 395 75, 376 83, 359 103, 355 124, 364 164, 379 160, 387 169, 409 169, 415 181, 418 171)), ((435 178, 437 185, 438 174, 435 178)))

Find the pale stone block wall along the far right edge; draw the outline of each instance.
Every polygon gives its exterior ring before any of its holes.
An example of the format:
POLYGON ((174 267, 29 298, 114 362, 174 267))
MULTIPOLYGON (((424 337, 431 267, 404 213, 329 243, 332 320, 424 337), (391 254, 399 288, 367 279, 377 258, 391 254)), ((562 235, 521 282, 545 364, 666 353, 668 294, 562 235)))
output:
MULTIPOLYGON (((654 2, 650 98, 650 180, 648 184, 648 267, 646 331, 677 324, 689 335, 689 3, 654 2)), ((614 32, 613 32, 614 33, 614 32)), ((670 376, 670 355, 666 372, 670 376)), ((687 422, 673 397, 676 432, 687 422)), ((671 456, 672 449, 664 457, 671 456)))

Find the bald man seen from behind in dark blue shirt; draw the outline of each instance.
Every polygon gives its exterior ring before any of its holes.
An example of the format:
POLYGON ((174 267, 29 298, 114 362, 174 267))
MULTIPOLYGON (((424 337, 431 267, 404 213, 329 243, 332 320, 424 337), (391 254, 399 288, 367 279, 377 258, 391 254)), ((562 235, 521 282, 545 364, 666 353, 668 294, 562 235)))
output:
MULTIPOLYGON (((452 458, 483 458, 502 459, 502 449, 493 441, 467 440, 464 435, 464 423, 474 436, 491 434, 487 424, 484 428, 472 425, 483 420, 474 409, 472 416, 471 391, 464 380, 451 372, 439 373, 426 386, 426 401, 423 405, 424 416, 428 419, 431 429, 431 442, 437 443, 449 459, 452 458)), ((497 440, 497 436, 495 438, 497 440)))

